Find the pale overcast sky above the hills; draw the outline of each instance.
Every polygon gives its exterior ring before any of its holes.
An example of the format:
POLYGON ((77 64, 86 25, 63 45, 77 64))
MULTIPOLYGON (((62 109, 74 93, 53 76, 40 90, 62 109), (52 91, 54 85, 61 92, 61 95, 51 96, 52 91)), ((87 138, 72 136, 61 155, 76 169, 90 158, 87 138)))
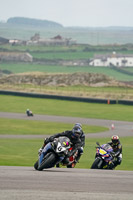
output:
POLYGON ((0 21, 10 17, 63 26, 133 26, 133 0, 0 0, 0 21))

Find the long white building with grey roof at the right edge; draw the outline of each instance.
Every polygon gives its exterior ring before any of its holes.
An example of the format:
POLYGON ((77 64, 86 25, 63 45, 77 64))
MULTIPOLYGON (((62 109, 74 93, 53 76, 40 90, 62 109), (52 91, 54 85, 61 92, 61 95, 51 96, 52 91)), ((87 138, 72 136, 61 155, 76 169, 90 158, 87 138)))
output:
POLYGON ((96 55, 90 66, 133 67, 133 55, 120 55, 113 52, 110 55, 96 55))

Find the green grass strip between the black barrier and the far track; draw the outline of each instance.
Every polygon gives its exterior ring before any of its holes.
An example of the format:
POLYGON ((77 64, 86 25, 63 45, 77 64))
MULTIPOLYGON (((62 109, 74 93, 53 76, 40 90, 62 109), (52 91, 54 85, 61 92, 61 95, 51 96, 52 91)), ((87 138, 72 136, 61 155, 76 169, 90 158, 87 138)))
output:
POLYGON ((27 108, 34 114, 133 121, 132 106, 0 95, 1 112, 25 113, 27 108))

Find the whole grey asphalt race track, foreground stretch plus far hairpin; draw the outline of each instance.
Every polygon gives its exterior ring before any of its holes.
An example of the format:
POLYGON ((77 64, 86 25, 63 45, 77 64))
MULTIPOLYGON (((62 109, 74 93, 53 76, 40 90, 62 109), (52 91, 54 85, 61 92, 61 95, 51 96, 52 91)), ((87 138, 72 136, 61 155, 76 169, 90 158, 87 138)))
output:
MULTIPOLYGON (((86 137, 133 136, 131 122, 3 113, 2 118, 80 122, 106 126, 110 130, 86 137), (111 130, 111 124, 115 125, 111 130)), ((0 138, 44 138, 40 136, 0 135, 0 138)), ((33 167, 0 166, 0 200, 133 200, 133 171, 52 168, 35 171, 33 167)))

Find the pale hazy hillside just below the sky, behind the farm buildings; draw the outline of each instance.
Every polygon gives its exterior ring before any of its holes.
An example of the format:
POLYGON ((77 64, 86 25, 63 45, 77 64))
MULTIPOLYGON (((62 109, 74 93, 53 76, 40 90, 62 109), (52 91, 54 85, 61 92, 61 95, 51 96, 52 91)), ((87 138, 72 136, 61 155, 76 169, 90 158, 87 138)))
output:
POLYGON ((132 27, 62 27, 58 23, 57 26, 35 26, 18 23, 0 23, 0 36, 8 39, 29 39, 35 33, 40 33, 44 38, 52 38, 55 35, 62 35, 65 38, 72 38, 77 43, 82 44, 126 44, 133 43, 132 27))

